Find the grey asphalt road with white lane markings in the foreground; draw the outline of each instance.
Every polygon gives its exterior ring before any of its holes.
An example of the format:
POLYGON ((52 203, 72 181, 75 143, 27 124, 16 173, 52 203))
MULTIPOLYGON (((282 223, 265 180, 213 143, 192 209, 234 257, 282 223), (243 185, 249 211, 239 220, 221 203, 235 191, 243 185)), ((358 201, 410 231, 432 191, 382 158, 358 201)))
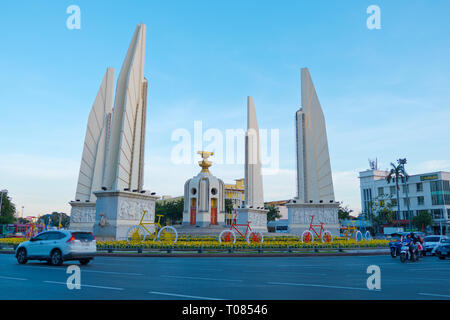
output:
POLYGON ((96 257, 81 267, 79 290, 67 288, 70 264, 19 265, 0 254, 0 299, 450 300, 450 260, 436 257, 96 257), (367 288, 370 265, 380 267, 380 290, 367 288))

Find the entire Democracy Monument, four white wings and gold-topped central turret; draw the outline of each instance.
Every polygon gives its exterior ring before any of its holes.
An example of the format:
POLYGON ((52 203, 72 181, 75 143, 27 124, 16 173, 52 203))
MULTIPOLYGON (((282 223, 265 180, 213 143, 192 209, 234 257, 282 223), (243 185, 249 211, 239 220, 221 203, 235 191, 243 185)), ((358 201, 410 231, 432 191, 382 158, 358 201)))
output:
MULTIPOLYGON (((107 68, 89 114, 75 200, 70 201, 70 228, 94 232, 105 240, 127 238, 127 231, 146 211, 155 220, 155 193, 143 189, 148 81, 144 77, 145 24, 136 27, 119 73, 114 95, 114 69, 107 68), (114 108, 113 108, 114 106, 114 108)), ((309 228, 311 216, 339 234, 338 203, 325 118, 308 69, 301 70, 302 107, 296 112, 297 195, 287 204, 289 233, 309 228)), ((200 173, 184 185, 181 233, 218 232, 225 226, 224 183, 209 171, 212 152, 199 151, 200 173)), ((245 199, 238 224, 267 233, 261 150, 255 104, 247 97, 245 134, 245 199)))

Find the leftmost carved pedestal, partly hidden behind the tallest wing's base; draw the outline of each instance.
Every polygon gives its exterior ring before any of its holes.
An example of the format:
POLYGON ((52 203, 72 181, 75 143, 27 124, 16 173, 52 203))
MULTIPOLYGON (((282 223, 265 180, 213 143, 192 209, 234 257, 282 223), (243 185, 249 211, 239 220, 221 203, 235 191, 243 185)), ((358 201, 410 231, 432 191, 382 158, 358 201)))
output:
POLYGON ((95 202, 71 201, 70 225, 71 230, 92 232, 95 223, 95 202))

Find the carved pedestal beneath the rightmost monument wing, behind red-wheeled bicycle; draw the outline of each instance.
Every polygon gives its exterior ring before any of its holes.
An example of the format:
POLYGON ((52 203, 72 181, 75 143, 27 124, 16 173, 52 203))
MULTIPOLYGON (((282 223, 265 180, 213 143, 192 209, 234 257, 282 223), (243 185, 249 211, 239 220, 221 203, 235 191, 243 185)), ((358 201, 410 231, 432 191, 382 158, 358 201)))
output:
MULTIPOLYGON (((301 235, 303 231, 308 230, 311 223, 311 216, 314 215, 313 224, 323 222, 324 229, 330 231, 333 236, 340 235, 338 219, 339 203, 290 202, 286 204, 286 207, 288 208, 289 233, 301 235)), ((317 230, 317 232, 319 231, 317 230)))

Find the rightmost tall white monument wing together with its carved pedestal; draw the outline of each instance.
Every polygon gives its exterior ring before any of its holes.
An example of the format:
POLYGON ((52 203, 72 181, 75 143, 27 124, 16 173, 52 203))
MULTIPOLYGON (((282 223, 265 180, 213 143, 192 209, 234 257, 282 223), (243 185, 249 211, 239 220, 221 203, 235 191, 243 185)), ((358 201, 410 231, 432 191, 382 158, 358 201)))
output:
POLYGON ((301 70, 302 107, 297 111, 297 196, 286 205, 289 232, 301 234, 323 222, 339 235, 338 207, 334 200, 325 117, 307 68, 301 70))

